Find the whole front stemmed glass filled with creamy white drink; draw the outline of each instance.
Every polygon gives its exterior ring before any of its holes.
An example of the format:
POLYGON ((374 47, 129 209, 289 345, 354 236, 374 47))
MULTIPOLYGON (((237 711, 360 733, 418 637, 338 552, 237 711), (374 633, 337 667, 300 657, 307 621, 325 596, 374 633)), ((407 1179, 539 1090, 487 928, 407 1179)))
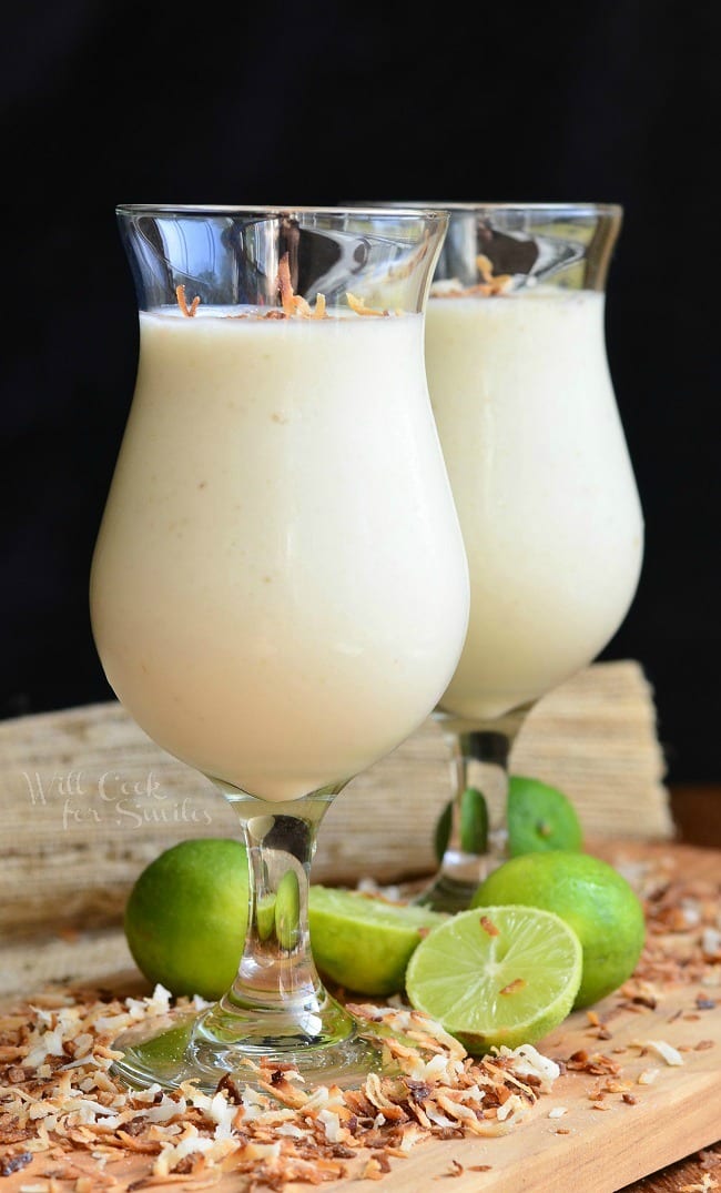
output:
POLYGON ((312 962, 316 833, 434 707, 468 617, 423 360, 447 216, 118 218, 139 361, 93 632, 131 716, 236 809, 251 891, 232 988, 124 1036, 116 1071, 215 1089, 263 1058, 343 1084, 380 1058, 312 962))

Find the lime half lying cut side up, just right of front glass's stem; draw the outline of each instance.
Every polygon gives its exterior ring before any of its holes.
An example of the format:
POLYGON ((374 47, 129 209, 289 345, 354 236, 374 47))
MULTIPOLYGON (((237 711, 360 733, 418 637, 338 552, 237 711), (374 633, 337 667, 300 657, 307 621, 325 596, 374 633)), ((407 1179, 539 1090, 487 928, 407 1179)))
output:
POLYGON ((423 935, 448 916, 343 888, 311 885, 309 925, 321 973, 355 994, 403 989, 405 968, 423 935))

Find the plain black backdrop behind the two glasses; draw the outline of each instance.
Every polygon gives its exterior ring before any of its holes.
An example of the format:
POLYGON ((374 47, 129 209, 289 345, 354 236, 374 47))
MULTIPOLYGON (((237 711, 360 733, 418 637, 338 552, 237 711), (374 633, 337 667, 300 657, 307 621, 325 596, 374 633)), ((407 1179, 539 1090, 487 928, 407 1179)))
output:
POLYGON ((0 715, 112 694, 87 580, 136 363, 117 203, 597 199, 624 208, 607 330, 647 525, 603 657, 644 666, 669 778, 721 778, 719 6, 20 7, 0 43, 0 715))

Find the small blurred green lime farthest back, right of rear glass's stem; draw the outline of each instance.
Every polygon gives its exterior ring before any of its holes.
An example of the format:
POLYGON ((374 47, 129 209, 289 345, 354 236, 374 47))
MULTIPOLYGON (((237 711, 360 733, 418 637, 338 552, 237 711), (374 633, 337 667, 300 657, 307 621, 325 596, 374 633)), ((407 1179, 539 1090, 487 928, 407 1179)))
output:
POLYGON ((524 774, 509 778, 506 828, 511 858, 548 849, 583 849, 580 821, 568 796, 524 774))

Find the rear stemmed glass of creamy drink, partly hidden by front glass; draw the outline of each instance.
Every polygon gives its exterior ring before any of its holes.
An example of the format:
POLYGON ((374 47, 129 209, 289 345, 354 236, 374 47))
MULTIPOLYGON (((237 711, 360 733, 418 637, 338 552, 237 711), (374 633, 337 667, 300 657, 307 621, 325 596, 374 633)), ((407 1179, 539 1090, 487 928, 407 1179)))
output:
POLYGON ((504 806, 528 711, 621 625, 644 521, 609 372, 619 206, 439 204, 450 224, 427 311, 433 408, 471 573, 464 651, 435 716, 454 758, 450 840, 419 901, 467 903, 487 859, 460 801, 504 806))

